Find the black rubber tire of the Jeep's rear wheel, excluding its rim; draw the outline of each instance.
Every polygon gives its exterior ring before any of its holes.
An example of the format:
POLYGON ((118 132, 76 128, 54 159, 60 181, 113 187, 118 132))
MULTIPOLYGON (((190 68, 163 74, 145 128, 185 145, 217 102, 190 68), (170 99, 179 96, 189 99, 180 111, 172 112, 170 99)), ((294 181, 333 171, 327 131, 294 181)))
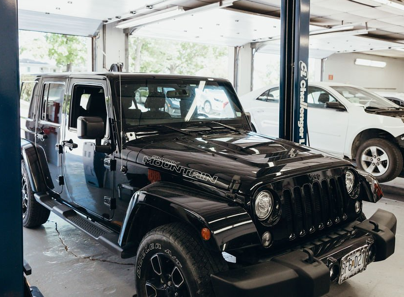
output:
POLYGON ((28 173, 24 161, 22 162, 21 167, 22 174, 25 175, 28 191, 27 215, 26 220, 23 219, 23 226, 26 228, 35 228, 44 224, 48 220, 51 211, 35 200, 34 193, 29 184, 28 173))

